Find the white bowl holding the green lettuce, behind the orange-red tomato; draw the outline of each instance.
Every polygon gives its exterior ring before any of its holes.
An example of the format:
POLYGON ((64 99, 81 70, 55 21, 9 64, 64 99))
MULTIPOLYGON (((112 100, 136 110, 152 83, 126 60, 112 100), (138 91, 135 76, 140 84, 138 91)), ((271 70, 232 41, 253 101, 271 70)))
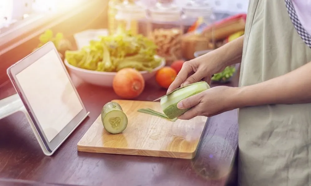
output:
MULTIPOLYGON (((65 65, 67 66, 68 70, 71 73, 74 73, 77 77, 81 78, 83 81, 97 85, 97 86, 110 86, 112 87, 112 82, 116 72, 99 72, 95 70, 87 70, 75 67, 64 60, 65 65)), ((142 77, 145 81, 149 80, 150 78, 156 75, 156 72, 165 66, 165 60, 163 59, 158 67, 153 69, 152 72, 148 71, 139 71, 142 74, 142 77)))

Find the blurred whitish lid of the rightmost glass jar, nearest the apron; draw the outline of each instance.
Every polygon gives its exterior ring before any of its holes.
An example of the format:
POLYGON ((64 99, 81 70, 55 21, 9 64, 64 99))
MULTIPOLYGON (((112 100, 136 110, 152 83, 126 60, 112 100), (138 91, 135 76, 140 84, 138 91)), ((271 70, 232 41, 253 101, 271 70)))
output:
POLYGON ((189 0, 182 8, 183 14, 189 17, 209 17, 213 14, 209 1, 189 0))

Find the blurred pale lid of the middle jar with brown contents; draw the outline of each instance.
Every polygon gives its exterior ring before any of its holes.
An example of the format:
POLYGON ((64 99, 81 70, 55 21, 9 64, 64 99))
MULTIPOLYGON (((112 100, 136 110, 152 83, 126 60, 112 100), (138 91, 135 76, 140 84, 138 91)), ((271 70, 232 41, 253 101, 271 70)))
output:
POLYGON ((152 20, 173 22, 180 20, 181 8, 169 0, 158 0, 149 13, 152 20))

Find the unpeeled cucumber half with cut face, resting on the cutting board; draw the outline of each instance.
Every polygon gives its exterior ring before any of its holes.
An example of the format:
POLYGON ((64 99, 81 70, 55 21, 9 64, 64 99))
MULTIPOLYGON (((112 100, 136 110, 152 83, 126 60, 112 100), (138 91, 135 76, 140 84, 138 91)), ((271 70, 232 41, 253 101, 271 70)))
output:
POLYGON ((112 134, 121 133, 128 125, 128 117, 121 106, 113 101, 106 103, 102 108, 101 121, 105 130, 112 134))

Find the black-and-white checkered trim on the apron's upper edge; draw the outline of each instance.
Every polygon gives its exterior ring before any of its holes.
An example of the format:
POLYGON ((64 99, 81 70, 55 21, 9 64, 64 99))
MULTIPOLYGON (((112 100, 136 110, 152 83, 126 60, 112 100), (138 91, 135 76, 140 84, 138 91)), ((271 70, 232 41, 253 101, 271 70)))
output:
POLYGON ((311 35, 304 29, 304 27, 300 23, 292 1, 285 0, 285 5, 287 8, 287 12, 290 16, 290 19, 294 24, 294 27, 297 30, 300 38, 311 48, 311 35))

